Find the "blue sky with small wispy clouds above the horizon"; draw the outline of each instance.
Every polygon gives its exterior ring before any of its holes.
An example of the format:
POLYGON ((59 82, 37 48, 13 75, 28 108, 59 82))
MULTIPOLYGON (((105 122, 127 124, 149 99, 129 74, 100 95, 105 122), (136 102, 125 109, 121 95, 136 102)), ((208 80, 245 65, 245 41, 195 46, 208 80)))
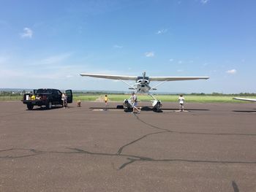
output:
MULTIPOLYGON (((80 73, 209 76, 158 91, 255 92, 256 1, 0 0, 0 88, 127 91, 80 73)), ((152 82, 154 84, 154 82, 152 82)))

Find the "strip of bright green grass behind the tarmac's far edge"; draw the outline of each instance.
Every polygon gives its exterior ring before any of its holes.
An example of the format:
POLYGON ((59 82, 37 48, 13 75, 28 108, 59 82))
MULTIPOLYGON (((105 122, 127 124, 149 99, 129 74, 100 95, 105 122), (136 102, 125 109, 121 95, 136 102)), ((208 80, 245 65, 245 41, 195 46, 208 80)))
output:
MULTIPOLYGON (((80 99, 80 101, 103 101, 105 94, 73 94, 74 101, 80 99)), ((123 94, 108 94, 109 101, 124 101, 128 99, 130 95, 123 94)), ((157 95, 157 99, 163 102, 176 102, 178 101, 178 95, 157 95)), ((233 96, 195 96, 185 95, 186 102, 198 102, 198 103, 241 103, 247 101, 238 101, 232 99, 233 96)), ((241 96, 244 98, 254 98, 253 96, 241 96)), ((0 101, 20 101, 22 96, 0 96, 0 101)), ((151 97, 146 95, 138 95, 140 101, 150 101, 151 97)))

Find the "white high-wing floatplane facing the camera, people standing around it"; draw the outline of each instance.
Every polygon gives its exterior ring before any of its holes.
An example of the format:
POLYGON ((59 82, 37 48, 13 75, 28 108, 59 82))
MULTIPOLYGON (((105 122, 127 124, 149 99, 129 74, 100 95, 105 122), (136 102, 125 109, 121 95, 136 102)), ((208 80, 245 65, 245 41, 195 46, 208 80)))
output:
MULTIPOLYGON (((209 77, 146 77, 146 72, 143 72, 143 76, 124 76, 124 75, 112 75, 112 74, 87 74, 83 73, 80 74, 81 76, 88 76, 88 77, 96 77, 96 78, 105 78, 110 80, 121 80, 129 86, 129 89, 135 91, 135 93, 147 93, 151 96, 154 100, 152 101, 152 107, 154 110, 159 110, 162 107, 162 102, 157 100, 150 91, 157 90, 159 85, 162 85, 164 82, 167 81, 177 81, 177 80, 207 80, 209 77), (134 85, 130 85, 129 83, 125 82, 124 80, 135 80, 134 85), (151 81, 161 81, 159 84, 155 85, 151 88, 149 83, 151 81)), ((130 99, 124 100, 124 110, 129 110, 132 107, 132 102, 130 99)))

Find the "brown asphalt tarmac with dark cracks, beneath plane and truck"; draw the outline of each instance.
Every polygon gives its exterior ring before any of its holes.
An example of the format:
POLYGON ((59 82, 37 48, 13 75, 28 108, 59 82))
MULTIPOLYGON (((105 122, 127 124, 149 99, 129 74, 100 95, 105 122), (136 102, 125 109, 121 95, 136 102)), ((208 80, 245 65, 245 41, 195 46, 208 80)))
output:
POLYGON ((117 104, 1 101, 0 191, 256 191, 255 104, 117 104))

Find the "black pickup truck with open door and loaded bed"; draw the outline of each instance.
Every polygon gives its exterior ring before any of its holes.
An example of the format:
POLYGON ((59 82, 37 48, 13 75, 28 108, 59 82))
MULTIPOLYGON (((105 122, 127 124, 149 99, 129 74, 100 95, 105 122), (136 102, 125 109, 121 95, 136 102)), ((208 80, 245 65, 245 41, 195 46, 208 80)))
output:
MULTIPOLYGON (((67 103, 72 103, 72 90, 66 90, 65 93, 67 95, 67 103)), ((23 101, 23 104, 26 104, 28 110, 33 110, 34 106, 45 106, 50 110, 53 104, 63 105, 61 95, 62 93, 58 89, 39 88, 34 89, 33 93, 25 93, 21 101, 23 101)))

